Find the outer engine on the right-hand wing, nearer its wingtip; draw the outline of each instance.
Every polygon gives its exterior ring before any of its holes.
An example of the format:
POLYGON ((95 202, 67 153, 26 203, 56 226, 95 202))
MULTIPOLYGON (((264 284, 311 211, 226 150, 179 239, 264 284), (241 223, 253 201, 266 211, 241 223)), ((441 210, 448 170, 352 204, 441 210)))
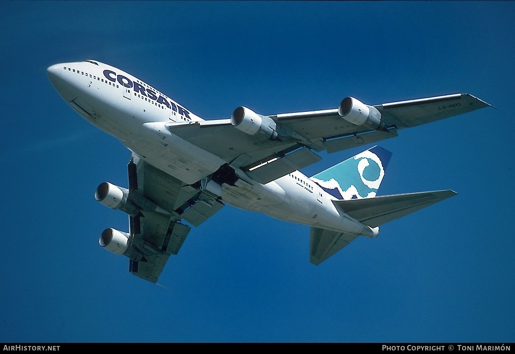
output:
POLYGON ((338 106, 338 114, 355 125, 364 125, 375 130, 387 130, 381 122, 381 113, 373 107, 365 105, 354 97, 342 99, 338 106))

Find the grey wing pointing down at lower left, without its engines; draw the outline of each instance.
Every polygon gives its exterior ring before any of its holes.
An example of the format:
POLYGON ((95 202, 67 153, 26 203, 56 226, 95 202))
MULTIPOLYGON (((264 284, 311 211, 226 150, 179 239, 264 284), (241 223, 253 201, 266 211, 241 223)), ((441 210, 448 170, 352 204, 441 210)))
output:
POLYGON ((129 216, 129 272, 156 283, 170 255, 177 255, 191 227, 224 204, 132 155, 128 199, 139 212, 129 216))

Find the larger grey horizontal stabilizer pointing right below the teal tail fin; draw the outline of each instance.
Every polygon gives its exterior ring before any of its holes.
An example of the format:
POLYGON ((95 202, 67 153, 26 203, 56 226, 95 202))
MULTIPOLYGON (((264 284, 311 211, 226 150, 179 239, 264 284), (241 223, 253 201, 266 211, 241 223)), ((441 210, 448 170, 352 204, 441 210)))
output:
POLYGON ((347 215, 373 228, 456 194, 454 191, 447 190, 385 195, 365 199, 333 200, 333 203, 347 215))

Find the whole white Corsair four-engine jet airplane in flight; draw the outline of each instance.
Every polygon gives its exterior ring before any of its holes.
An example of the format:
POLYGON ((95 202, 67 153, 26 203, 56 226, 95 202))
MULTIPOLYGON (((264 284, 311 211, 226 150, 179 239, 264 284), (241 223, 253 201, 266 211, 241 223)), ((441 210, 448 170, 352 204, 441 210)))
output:
MULTIPOLYGON (((334 153, 490 106, 451 94, 370 106, 261 115, 237 107, 204 120, 135 76, 97 60, 51 65, 47 75, 76 113, 131 152, 128 188, 102 182, 101 204, 129 215, 129 231, 105 229, 99 244, 129 258, 129 272, 156 283, 192 227, 225 205, 310 227, 319 265, 358 236, 456 194, 452 190, 376 196, 391 153, 373 146, 312 177, 299 170, 334 153)), ((490 106, 491 107, 491 106, 490 106)))

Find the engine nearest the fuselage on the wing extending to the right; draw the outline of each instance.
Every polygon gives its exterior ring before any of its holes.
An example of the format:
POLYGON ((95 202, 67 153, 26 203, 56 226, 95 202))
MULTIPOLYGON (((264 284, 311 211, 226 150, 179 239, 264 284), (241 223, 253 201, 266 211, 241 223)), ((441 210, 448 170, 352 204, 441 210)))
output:
POLYGON ((253 112, 247 107, 238 107, 231 115, 231 124, 249 135, 260 134, 265 139, 277 139, 276 122, 265 115, 253 112))

